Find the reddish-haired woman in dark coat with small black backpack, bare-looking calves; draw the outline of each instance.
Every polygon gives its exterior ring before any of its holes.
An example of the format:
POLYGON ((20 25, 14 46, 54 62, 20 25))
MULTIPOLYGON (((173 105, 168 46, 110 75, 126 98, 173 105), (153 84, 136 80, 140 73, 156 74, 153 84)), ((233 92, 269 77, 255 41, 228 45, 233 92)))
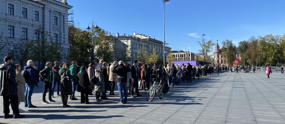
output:
POLYGON ((62 68, 58 71, 58 74, 60 75, 60 95, 61 95, 61 101, 63 106, 62 107, 70 107, 70 105, 67 104, 68 95, 72 95, 72 84, 71 79, 72 76, 70 74, 69 65, 67 63, 64 63, 62 65, 62 68), (68 77, 69 80, 67 82, 63 82, 63 79, 65 77, 68 77), (64 83, 66 85, 64 85, 64 83))

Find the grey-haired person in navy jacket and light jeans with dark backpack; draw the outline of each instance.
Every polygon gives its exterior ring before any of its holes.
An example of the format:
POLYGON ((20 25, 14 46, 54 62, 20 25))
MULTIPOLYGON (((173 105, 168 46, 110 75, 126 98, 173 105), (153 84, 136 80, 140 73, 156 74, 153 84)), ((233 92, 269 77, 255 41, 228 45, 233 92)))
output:
POLYGON ((33 67, 34 67, 34 62, 32 60, 28 60, 27 66, 25 66, 24 69, 22 70, 22 75, 25 78, 25 86, 26 86, 24 104, 25 107, 28 108, 36 108, 36 106, 32 104, 31 98, 34 91, 34 87, 37 82, 36 78, 39 77, 36 76, 36 72, 33 67))

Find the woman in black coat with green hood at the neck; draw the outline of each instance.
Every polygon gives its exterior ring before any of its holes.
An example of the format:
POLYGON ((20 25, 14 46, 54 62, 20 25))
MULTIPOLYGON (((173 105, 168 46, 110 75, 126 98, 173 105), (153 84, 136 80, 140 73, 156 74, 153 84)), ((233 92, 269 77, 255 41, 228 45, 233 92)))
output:
POLYGON ((89 76, 86 72, 85 66, 82 66, 80 68, 80 71, 77 74, 77 77, 79 77, 77 91, 81 93, 80 103, 91 104, 88 99, 88 91, 89 91, 90 82, 89 82, 89 76))

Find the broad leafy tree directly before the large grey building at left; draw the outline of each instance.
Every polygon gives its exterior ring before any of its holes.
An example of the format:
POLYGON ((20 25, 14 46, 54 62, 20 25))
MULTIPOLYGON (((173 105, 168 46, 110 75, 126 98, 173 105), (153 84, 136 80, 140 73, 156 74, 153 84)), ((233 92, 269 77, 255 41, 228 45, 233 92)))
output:
POLYGON ((40 34, 40 37, 37 40, 31 40, 28 45, 28 51, 33 54, 29 54, 28 58, 36 61, 40 61, 45 64, 47 61, 59 61, 62 59, 63 47, 59 47, 58 43, 53 40, 53 37, 50 37, 49 33, 42 32, 42 28, 37 29, 37 33, 40 34), (48 41, 48 37, 50 41, 48 41))

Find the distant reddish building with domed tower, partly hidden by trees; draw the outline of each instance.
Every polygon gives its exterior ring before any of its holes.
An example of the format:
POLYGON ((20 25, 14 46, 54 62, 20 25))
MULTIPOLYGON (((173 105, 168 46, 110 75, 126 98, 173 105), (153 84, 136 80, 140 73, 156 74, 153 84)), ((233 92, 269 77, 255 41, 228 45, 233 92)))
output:
MULTIPOLYGON (((241 54, 239 53, 238 49, 236 48, 236 58, 241 60, 241 54)), ((217 40, 217 44, 215 46, 215 51, 214 51, 214 63, 215 65, 228 65, 225 62, 225 59, 222 57, 222 50, 220 49, 220 46, 218 44, 218 40, 217 40)))

